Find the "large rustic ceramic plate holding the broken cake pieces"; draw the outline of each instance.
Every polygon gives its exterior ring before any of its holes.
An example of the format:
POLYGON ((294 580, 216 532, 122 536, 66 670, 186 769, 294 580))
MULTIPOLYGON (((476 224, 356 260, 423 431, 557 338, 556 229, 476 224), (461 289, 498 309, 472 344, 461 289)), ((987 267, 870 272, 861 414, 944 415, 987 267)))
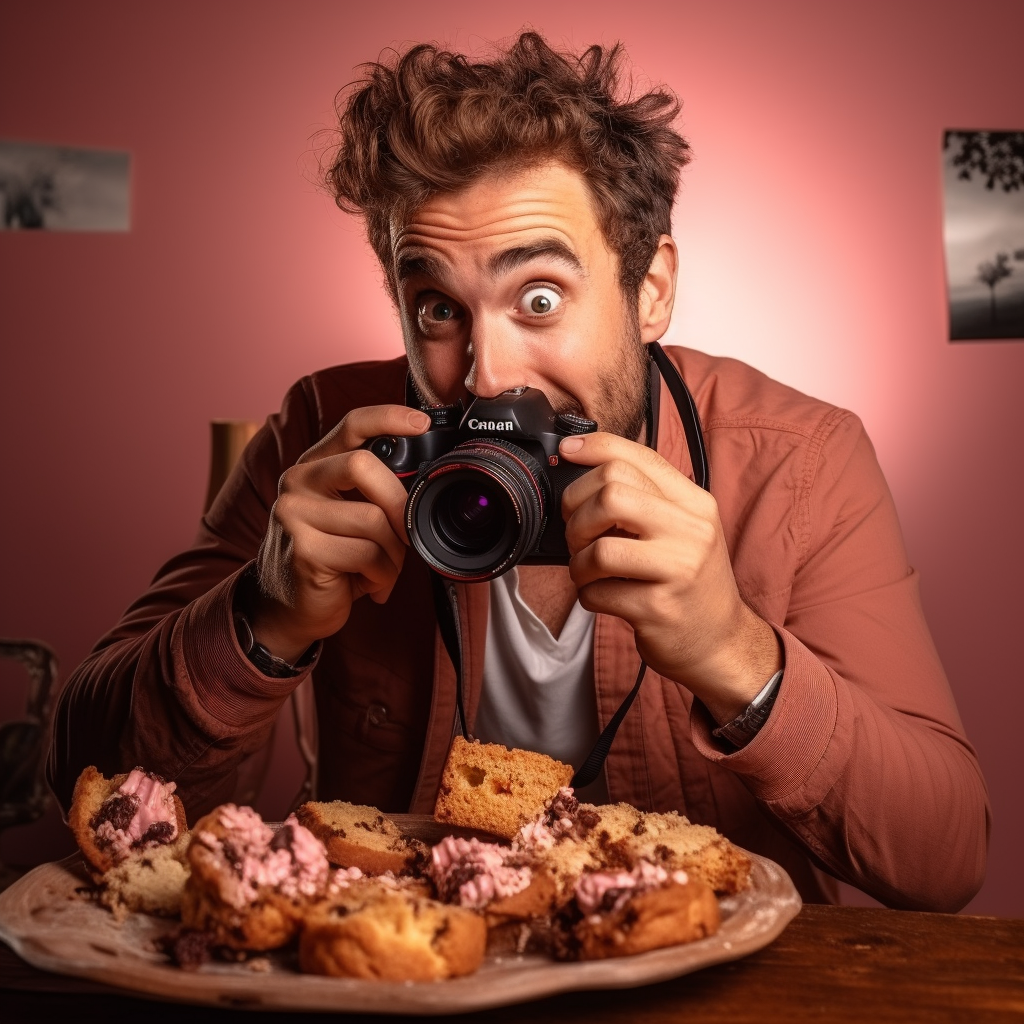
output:
POLYGON ((584 964, 556 964, 537 955, 492 957, 476 974, 452 981, 402 984, 300 975, 294 954, 287 952, 260 957, 260 970, 247 964, 209 964, 197 972, 181 971, 153 949, 154 939, 173 923, 131 914, 117 924, 82 895, 89 883, 77 855, 43 864, 0 893, 0 939, 45 971, 158 999, 264 1010, 459 1013, 575 989, 646 985, 761 949, 796 916, 801 903, 781 867, 751 857, 752 886, 721 901, 722 927, 711 938, 584 964))

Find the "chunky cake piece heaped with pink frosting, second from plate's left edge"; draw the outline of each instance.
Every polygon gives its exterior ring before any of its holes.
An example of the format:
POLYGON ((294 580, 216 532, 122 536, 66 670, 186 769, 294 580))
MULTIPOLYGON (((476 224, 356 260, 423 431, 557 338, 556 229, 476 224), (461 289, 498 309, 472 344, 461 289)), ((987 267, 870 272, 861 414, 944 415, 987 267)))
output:
POLYGON ((295 815, 274 831, 234 804, 196 823, 188 862, 181 923, 230 949, 285 945, 332 881, 324 844, 295 815))

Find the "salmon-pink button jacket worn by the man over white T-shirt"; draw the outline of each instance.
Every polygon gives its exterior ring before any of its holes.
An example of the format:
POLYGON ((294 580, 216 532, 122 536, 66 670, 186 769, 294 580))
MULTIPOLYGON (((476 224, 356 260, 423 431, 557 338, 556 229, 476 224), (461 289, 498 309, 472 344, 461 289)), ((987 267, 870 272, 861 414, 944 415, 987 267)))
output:
MULTIPOLYGON (((667 351, 703 424, 739 592, 781 638, 785 674, 768 721, 735 751, 712 735, 714 721, 684 687, 649 671, 608 755, 610 799, 714 825, 781 864, 807 900, 835 900, 842 879, 891 906, 962 907, 984 877, 985 784, 860 421, 736 360, 667 351)), ((191 818, 240 799, 292 697, 310 795, 432 810, 455 728, 455 674, 413 551, 388 602, 357 601, 295 679, 254 668, 232 623, 232 595, 282 472, 349 410, 402 403, 406 375, 404 358, 360 362, 291 389, 193 547, 160 570, 61 692, 48 767, 66 808, 90 764, 174 779, 191 818)), ((667 391, 659 438, 662 455, 689 474, 667 391)), ((462 585, 459 595, 470 730, 487 590, 462 585)), ((602 726, 638 665, 631 628, 598 615, 602 726)))

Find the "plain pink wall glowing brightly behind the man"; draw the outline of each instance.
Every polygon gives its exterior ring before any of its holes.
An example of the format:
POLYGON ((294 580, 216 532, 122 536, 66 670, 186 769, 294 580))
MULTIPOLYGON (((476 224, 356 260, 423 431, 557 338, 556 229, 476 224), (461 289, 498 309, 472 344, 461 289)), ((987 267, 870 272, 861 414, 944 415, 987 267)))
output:
MULTIPOLYGON (((578 46, 621 38, 683 96, 696 152, 669 340, 865 420, 991 790, 989 879, 971 908, 1024 916, 1024 344, 945 340, 939 173, 944 128, 1024 127, 1024 8, 355 6, 5 13, 0 137, 130 150, 134 219, 123 236, 0 233, 0 632, 47 639, 70 672, 188 543, 211 418, 262 417, 309 370, 400 350, 358 226, 306 176, 309 138, 359 61, 523 25, 578 46)), ((65 842, 51 821, 0 852, 65 842)))

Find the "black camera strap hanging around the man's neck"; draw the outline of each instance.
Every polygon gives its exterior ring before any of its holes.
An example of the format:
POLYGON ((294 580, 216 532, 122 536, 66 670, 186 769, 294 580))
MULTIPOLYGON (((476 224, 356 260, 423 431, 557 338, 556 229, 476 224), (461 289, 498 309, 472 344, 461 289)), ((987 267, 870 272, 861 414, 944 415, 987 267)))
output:
MULTIPOLYGON (((711 467, 708 463, 708 452, 705 447, 703 431, 700 428, 700 417, 697 415, 696 403, 690 394, 675 364, 666 354, 665 349, 653 341, 647 346, 650 356, 650 397, 647 417, 647 446, 657 449, 657 420, 660 397, 660 382, 664 380, 672 395, 672 399, 683 424, 686 436, 686 447, 693 468, 693 480, 697 486, 711 490, 711 467)), ((459 621, 459 595, 455 584, 434 569, 430 569, 430 585, 434 598, 434 610, 437 614, 437 625, 440 629, 444 649, 452 658, 455 668, 455 699, 459 713, 459 729, 466 739, 471 739, 466 725, 466 709, 463 700, 462 685, 462 627, 459 621)), ((604 767, 605 758, 611 750, 612 740, 618 727, 623 724, 633 701, 640 692, 640 684, 647 672, 646 662, 640 662, 636 682, 633 689, 626 695, 617 711, 611 716, 608 724, 601 731, 587 760, 577 769, 571 785, 574 790, 583 788, 595 781, 604 767)))

